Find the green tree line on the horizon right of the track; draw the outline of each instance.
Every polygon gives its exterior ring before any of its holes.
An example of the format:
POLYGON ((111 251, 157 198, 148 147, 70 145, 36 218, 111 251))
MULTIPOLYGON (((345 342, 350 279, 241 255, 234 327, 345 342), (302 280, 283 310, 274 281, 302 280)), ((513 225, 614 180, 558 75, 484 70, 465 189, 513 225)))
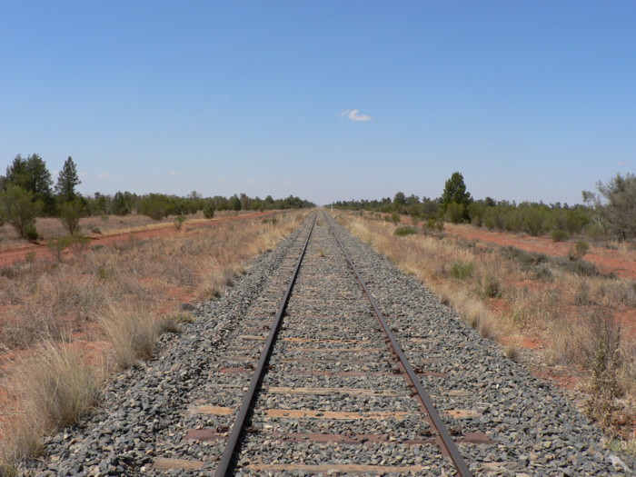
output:
MULTIPOLYGON (((373 211, 383 214, 408 214, 438 228, 446 221, 468 223, 488 230, 552 234, 556 240, 572 234, 586 234, 592 240, 636 238, 636 176, 617 174, 607 184, 599 181, 597 193, 582 192, 583 204, 544 204, 542 202, 497 201, 491 197, 474 200, 466 190, 463 176, 455 172, 444 184, 442 194, 431 199, 398 192, 393 199, 337 201, 333 207, 373 211)), ((391 220, 391 215, 385 216, 391 220)))

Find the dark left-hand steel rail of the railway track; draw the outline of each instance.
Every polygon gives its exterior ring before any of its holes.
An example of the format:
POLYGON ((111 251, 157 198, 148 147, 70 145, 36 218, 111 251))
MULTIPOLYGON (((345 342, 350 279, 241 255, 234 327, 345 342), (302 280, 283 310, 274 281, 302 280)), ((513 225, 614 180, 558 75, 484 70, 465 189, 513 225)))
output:
POLYGON ((232 461, 234 459, 234 452, 238 450, 239 440, 243 436, 243 427, 245 425, 245 422, 247 422, 247 418, 251 414, 254 397, 263 380, 265 366, 267 365, 270 354, 272 353, 273 343, 276 340, 278 330, 280 329, 281 323, 283 322, 283 313, 285 312, 285 308, 287 307, 289 295, 292 293, 293 283, 296 281, 298 270, 300 269, 301 263, 303 262, 304 253, 307 250, 309 237, 312 235, 313 225, 316 223, 317 216, 317 213, 313 215, 312 225, 309 229, 309 234, 307 234, 307 239, 305 240, 303 245, 303 252, 301 252, 300 257, 298 258, 298 262, 293 269, 292 278, 290 279, 289 284, 287 285, 287 290, 283 295, 283 301, 281 302, 278 313, 276 313, 276 317, 274 318, 272 329, 267 335, 267 340, 265 340, 263 351, 261 352, 261 356, 258 360, 258 363, 256 364, 256 369, 252 375, 252 381, 250 382, 250 386, 248 387, 247 392, 243 396, 243 402, 241 402, 239 412, 236 414, 236 419, 234 420, 234 425, 232 426, 232 432, 230 432, 230 436, 228 437, 227 443, 225 444, 224 453, 221 456, 219 465, 216 467, 216 471, 214 472, 215 477, 224 477, 231 470, 232 461))

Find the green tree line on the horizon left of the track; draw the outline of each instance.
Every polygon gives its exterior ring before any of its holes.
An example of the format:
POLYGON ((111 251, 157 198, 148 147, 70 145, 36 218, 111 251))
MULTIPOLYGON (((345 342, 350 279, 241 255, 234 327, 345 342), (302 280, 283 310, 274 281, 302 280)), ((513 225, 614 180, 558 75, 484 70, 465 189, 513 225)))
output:
POLYGON ((186 197, 173 194, 134 194, 119 191, 115 194, 82 195, 77 192, 81 184, 77 166, 72 157, 57 176, 46 168, 45 161, 38 154, 26 157, 18 154, 13 163, 0 175, 0 226, 11 224, 15 231, 27 240, 36 240, 39 234, 35 227, 37 217, 57 217, 65 225, 69 234, 79 230, 79 221, 88 215, 144 214, 155 220, 169 215, 196 214, 212 218, 214 211, 263 211, 272 209, 310 208, 315 204, 290 195, 283 199, 249 197, 234 194, 226 198, 222 195, 204 197, 193 191, 186 197))

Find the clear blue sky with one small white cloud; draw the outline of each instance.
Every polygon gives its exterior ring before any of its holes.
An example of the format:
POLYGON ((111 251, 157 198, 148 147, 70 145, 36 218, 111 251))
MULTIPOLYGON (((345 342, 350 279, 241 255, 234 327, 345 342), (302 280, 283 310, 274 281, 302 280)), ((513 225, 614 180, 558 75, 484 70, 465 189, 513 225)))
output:
POLYGON ((581 203, 636 164, 636 2, 0 0, 0 174, 84 194, 581 203))

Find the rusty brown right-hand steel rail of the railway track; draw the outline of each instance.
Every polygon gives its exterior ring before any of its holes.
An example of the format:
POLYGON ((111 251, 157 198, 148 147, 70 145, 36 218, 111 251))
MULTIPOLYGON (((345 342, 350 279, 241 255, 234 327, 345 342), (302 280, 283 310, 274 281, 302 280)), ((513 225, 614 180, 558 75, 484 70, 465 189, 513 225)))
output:
POLYGON ((439 436, 438 441, 440 442, 438 443, 440 447, 442 447, 442 453, 445 452, 451 458, 452 463, 455 466, 455 469, 457 469, 457 472, 461 477, 472 477, 472 472, 468 469, 468 465, 466 465, 466 462, 463 460, 462 454, 459 452, 459 449, 457 449, 455 442, 452 440, 451 434, 449 434, 449 432, 446 430, 446 426, 442 422, 440 415, 435 410, 435 407, 431 401, 431 398, 422 388, 422 383, 420 383, 420 379, 418 378, 417 374, 413 371, 411 364, 406 359, 406 356, 402 352, 402 348, 400 344, 398 344, 397 341, 395 340, 395 336, 393 335, 391 328, 386 322, 386 319, 384 318, 383 313, 380 311, 380 308, 378 307, 378 303, 375 301, 373 294, 367 288, 366 283, 364 283, 363 278, 360 276, 360 273, 358 273, 358 270, 355 268, 355 265, 353 265, 353 261, 351 260, 349 253, 347 253, 347 251, 345 250, 343 246, 343 243, 340 241, 340 237, 338 237, 338 234, 335 233, 335 230, 333 229, 333 225, 329 222, 329 219, 331 217, 327 218, 327 214, 325 214, 324 211, 323 211, 323 215, 325 216, 325 222, 329 224, 329 228, 333 232, 333 236, 335 237, 340 247, 343 249, 343 253, 347 259, 347 263, 349 263, 349 266, 352 268, 353 273, 355 274, 356 278, 362 285, 364 293, 366 293, 366 296, 369 299, 369 302, 373 306, 373 311, 375 312, 375 315, 378 321, 383 327, 384 334, 386 334, 387 338, 389 339, 391 343, 391 346, 393 348, 393 353, 395 353, 397 358, 400 360, 400 363, 402 364, 402 368, 406 372, 408 381, 415 388, 418 399, 420 400, 420 402, 422 402, 422 405, 426 409, 426 412, 429 415, 432 425, 437 431, 437 434, 439 436))

